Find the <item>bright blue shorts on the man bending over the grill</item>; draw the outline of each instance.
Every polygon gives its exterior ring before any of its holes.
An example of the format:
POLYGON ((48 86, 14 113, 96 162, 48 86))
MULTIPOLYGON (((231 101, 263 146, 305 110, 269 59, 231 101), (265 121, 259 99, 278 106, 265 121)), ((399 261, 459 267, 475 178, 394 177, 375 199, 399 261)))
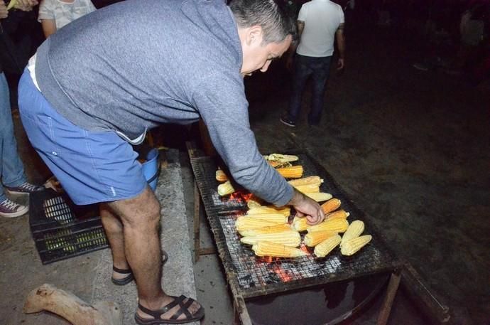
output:
POLYGON ((148 186, 131 144, 115 132, 89 132, 62 117, 27 69, 18 106, 31 144, 75 204, 134 198, 148 186))

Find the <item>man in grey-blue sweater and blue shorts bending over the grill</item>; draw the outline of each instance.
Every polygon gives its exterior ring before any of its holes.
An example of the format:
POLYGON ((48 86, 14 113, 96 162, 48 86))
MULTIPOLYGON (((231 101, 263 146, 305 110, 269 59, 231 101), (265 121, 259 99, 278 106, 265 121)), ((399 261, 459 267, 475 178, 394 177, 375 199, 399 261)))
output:
POLYGON ((19 83, 28 138, 72 201, 101 203, 112 278, 136 279, 137 324, 204 316, 161 287, 160 203, 131 146, 148 129, 202 119, 234 181, 310 224, 325 219, 263 159, 250 129, 244 77, 266 72, 295 34, 273 0, 126 0, 61 28, 29 61, 19 83))

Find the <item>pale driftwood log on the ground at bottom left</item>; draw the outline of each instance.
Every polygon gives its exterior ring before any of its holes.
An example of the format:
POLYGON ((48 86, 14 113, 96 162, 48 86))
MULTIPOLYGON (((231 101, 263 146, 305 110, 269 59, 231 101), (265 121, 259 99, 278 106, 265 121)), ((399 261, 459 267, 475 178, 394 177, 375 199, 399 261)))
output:
POLYGON ((122 313, 115 302, 84 302, 71 292, 51 284, 43 284, 31 291, 24 304, 26 314, 50 311, 73 325, 122 325, 122 313))

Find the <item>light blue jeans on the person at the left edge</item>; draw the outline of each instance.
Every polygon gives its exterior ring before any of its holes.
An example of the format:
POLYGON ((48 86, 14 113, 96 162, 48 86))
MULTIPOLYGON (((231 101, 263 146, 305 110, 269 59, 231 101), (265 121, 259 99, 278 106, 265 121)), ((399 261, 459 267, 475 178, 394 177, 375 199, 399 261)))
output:
MULTIPOLYGON (((26 181, 24 167, 17 154, 16 137, 13 135, 9 85, 4 73, 0 73, 0 176, 4 186, 20 186, 26 181)), ((0 202, 6 199, 0 186, 0 202)))

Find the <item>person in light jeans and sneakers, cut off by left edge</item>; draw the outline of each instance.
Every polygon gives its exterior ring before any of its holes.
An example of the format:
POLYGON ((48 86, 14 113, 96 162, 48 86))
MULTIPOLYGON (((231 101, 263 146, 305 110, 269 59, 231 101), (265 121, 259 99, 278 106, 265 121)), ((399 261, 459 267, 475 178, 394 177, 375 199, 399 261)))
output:
MULTIPOLYGON (((37 1, 18 0, 15 9, 31 11, 37 1)), ((1 21, 8 18, 9 11, 3 0, 0 0, 0 42, 5 44, 4 29, 1 21)), ((10 106, 9 85, 5 78, 2 60, 0 60, 0 216, 15 218, 28 212, 27 206, 15 203, 6 197, 4 187, 8 193, 22 194, 40 191, 42 186, 28 183, 24 173, 23 164, 17 153, 17 143, 13 134, 12 111, 10 106)))

